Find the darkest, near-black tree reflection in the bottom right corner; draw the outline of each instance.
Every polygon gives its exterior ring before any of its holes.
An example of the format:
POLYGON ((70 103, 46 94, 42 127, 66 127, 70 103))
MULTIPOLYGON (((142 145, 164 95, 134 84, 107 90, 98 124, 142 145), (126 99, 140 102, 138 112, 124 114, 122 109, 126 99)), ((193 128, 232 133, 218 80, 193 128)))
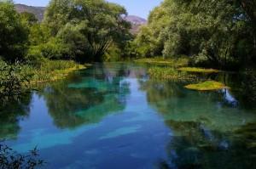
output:
POLYGON ((166 146, 168 160, 160 161, 159 168, 241 169, 256 166, 256 149, 246 146, 244 135, 237 137, 236 132, 207 131, 211 134, 209 138, 199 123, 166 121, 166 125, 176 133, 166 146))

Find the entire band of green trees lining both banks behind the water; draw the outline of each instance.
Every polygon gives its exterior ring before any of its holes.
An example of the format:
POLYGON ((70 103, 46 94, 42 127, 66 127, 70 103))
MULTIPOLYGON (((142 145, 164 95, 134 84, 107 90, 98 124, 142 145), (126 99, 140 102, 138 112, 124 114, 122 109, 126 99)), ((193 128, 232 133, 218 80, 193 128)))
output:
POLYGON ((189 57, 190 65, 239 70, 256 63, 255 0, 165 0, 136 37, 125 8, 105 0, 51 0, 42 23, 0 1, 0 56, 44 59, 189 57))

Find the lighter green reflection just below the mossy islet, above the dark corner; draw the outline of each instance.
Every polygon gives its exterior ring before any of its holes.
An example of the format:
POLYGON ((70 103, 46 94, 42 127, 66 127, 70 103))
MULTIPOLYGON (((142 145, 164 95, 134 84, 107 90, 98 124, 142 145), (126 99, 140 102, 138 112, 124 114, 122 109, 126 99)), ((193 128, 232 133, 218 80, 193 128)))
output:
POLYGON ((183 84, 174 82, 148 81, 141 85, 147 92, 148 103, 165 120, 200 121, 206 127, 222 132, 256 120, 253 112, 234 107, 236 99, 227 91, 201 93, 184 89, 183 84))

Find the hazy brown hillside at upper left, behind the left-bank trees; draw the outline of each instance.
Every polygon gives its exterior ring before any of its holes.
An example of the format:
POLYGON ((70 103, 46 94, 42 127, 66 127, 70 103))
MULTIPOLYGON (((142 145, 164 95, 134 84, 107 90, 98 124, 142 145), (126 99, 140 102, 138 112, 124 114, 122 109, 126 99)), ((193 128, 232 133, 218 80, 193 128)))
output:
POLYGON ((44 19, 45 7, 33 7, 24 4, 15 4, 15 8, 19 13, 29 12, 35 14, 39 22, 41 22, 44 19))

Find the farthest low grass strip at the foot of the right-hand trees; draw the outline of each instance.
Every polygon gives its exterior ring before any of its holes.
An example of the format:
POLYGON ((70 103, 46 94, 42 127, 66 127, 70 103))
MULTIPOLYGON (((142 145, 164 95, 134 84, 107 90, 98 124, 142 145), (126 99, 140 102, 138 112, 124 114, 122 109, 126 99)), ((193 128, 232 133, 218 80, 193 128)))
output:
POLYGON ((147 59, 136 59, 135 62, 150 65, 168 65, 172 67, 184 67, 189 65, 189 59, 185 57, 179 59, 164 59, 160 57, 155 57, 147 59))

